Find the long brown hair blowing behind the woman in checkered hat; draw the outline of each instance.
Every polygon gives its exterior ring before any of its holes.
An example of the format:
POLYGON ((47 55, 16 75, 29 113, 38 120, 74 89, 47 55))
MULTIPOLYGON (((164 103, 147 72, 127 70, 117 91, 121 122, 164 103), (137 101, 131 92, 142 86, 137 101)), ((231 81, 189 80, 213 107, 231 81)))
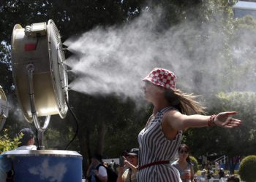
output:
POLYGON ((206 108, 195 100, 197 97, 197 95, 187 94, 178 89, 165 89, 165 98, 170 106, 177 108, 181 114, 205 114, 206 108))

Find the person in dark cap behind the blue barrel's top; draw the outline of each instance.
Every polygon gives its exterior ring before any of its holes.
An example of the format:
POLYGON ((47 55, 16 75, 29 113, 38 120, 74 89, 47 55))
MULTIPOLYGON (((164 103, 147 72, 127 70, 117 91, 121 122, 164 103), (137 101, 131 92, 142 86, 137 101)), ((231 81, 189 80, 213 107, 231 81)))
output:
POLYGON ((15 150, 37 150, 37 146, 34 146, 34 132, 30 128, 21 129, 19 135, 22 135, 22 138, 15 150))

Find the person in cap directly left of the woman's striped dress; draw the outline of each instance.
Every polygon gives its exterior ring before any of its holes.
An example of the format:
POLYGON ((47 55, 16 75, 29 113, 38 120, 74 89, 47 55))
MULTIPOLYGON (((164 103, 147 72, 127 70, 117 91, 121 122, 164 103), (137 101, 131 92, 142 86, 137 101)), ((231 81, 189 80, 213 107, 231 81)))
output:
POLYGON ((124 167, 127 167, 127 170, 124 170, 123 166, 119 167, 116 182, 137 182, 138 152, 139 149, 132 149, 124 157, 124 167))

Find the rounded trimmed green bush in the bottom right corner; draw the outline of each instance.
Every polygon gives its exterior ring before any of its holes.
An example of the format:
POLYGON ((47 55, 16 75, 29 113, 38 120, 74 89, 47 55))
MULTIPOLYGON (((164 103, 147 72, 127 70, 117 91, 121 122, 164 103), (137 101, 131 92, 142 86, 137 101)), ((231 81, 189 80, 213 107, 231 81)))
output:
POLYGON ((256 179, 256 156, 247 156, 242 159, 239 167, 239 175, 242 181, 255 182, 256 179))

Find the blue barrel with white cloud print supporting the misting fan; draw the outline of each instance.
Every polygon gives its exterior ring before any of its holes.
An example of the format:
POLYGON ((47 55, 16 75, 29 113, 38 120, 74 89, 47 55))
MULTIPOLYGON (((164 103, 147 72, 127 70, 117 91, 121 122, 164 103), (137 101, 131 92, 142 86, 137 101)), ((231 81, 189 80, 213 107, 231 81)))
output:
POLYGON ((76 151, 17 150, 4 152, 11 159, 14 181, 81 182, 82 156, 76 151))

